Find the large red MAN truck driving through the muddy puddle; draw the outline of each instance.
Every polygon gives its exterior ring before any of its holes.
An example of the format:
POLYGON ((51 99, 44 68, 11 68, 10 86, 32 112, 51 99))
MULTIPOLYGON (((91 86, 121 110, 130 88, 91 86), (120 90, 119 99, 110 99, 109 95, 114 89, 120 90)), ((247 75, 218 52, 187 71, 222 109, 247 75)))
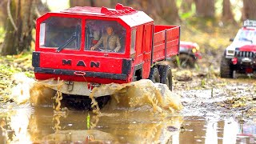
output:
MULTIPOLYGON (((149 78, 172 90, 166 58, 178 55, 180 26, 158 26, 142 11, 117 4, 76 6, 37 19, 35 78, 60 78, 63 98, 88 98, 95 86, 149 78), (76 97, 74 97, 76 96, 76 97)), ((94 96, 106 102, 107 92, 94 96)), ((90 99, 90 98, 88 98, 90 99)), ((90 102, 89 106, 90 106, 90 102)))

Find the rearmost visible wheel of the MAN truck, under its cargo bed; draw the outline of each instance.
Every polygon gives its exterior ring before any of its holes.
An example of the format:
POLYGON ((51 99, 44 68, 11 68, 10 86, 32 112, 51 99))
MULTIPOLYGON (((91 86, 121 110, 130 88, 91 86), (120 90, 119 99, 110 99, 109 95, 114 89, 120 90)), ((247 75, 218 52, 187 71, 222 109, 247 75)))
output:
POLYGON ((170 66, 160 66, 160 82, 166 84, 169 90, 173 90, 173 78, 170 66))

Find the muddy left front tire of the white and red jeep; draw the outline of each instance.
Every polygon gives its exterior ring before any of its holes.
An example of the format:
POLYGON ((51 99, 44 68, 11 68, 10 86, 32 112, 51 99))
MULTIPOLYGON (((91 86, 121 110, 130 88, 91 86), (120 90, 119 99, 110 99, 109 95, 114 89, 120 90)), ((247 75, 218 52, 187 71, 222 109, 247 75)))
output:
POLYGON ((233 78, 233 70, 230 69, 230 62, 225 56, 222 57, 220 75, 221 78, 233 78))

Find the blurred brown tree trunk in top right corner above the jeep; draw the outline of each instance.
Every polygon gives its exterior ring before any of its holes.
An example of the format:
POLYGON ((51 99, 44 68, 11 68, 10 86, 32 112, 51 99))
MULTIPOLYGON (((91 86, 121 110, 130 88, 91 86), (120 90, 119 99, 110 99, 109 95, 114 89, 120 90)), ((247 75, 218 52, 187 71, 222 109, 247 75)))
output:
POLYGON ((243 0, 242 20, 254 19, 256 20, 256 1, 243 0))

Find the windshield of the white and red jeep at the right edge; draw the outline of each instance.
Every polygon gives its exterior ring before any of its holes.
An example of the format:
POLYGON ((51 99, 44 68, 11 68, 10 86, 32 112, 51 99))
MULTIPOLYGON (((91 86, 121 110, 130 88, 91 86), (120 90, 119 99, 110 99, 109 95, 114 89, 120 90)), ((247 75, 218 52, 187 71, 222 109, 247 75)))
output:
POLYGON ((234 41, 256 43, 256 30, 239 30, 234 41))

